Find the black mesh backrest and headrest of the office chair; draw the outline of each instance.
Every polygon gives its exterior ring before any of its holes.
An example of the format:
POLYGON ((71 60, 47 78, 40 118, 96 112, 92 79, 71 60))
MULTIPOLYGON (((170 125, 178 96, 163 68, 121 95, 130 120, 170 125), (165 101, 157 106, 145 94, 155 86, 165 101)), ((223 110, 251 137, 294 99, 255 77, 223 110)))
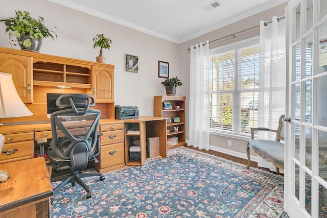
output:
POLYGON ((95 155, 98 140, 98 127, 101 112, 89 109, 95 106, 95 100, 89 94, 62 94, 56 105, 67 108, 51 114, 51 149, 64 159, 69 157, 74 147, 86 147, 88 156, 95 155))

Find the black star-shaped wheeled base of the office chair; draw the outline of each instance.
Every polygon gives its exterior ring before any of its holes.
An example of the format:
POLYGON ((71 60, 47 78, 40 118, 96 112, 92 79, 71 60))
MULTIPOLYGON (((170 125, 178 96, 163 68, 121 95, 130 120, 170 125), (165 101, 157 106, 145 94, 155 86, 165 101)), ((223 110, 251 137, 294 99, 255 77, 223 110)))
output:
POLYGON ((92 176, 99 176, 100 181, 103 181, 105 177, 102 175, 102 173, 77 173, 77 174, 69 174, 69 175, 63 175, 59 177, 55 177, 51 179, 51 182, 59 182, 62 181, 57 187, 54 188, 53 193, 57 193, 60 189, 62 189, 65 185, 68 183, 72 184, 72 187, 75 186, 75 183, 78 183, 80 186, 82 186, 86 191, 86 198, 91 198, 91 192, 90 188, 81 180, 85 177, 92 177, 92 176))

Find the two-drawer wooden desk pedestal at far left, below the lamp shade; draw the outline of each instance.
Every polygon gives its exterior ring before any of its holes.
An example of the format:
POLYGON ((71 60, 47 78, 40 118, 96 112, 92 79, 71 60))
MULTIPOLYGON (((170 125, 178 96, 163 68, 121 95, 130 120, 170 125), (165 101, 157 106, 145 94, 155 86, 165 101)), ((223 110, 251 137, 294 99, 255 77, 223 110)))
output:
MULTIPOLYGON (((2 127, 3 128, 3 127, 2 127)), ((3 128, 4 129, 4 128, 3 128)), ((7 133, 0 163, 34 157, 34 132, 7 133)))

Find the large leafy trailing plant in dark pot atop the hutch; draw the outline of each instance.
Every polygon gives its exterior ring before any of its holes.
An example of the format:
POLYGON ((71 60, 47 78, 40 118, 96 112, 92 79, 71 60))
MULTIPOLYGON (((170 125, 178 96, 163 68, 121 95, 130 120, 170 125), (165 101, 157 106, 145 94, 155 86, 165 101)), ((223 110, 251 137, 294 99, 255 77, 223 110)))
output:
POLYGON ((10 31, 8 35, 12 48, 13 45, 17 45, 16 42, 18 41, 21 49, 38 52, 41 48, 42 38, 51 37, 53 40, 54 36, 58 38, 55 32, 44 26, 43 20, 44 18, 40 16, 38 19, 31 17, 27 11, 16 11, 15 17, 0 21, 5 22, 6 33, 10 31))

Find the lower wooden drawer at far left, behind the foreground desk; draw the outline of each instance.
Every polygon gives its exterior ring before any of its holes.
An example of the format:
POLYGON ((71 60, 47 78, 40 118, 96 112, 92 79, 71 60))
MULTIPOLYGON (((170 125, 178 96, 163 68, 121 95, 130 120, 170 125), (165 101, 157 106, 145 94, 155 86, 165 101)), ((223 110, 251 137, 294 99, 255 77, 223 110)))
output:
POLYGON ((22 141, 4 144, 3 152, 0 155, 0 163, 11 162, 21 159, 33 158, 34 141, 22 141), (15 150, 13 154, 5 154, 4 151, 15 150))

